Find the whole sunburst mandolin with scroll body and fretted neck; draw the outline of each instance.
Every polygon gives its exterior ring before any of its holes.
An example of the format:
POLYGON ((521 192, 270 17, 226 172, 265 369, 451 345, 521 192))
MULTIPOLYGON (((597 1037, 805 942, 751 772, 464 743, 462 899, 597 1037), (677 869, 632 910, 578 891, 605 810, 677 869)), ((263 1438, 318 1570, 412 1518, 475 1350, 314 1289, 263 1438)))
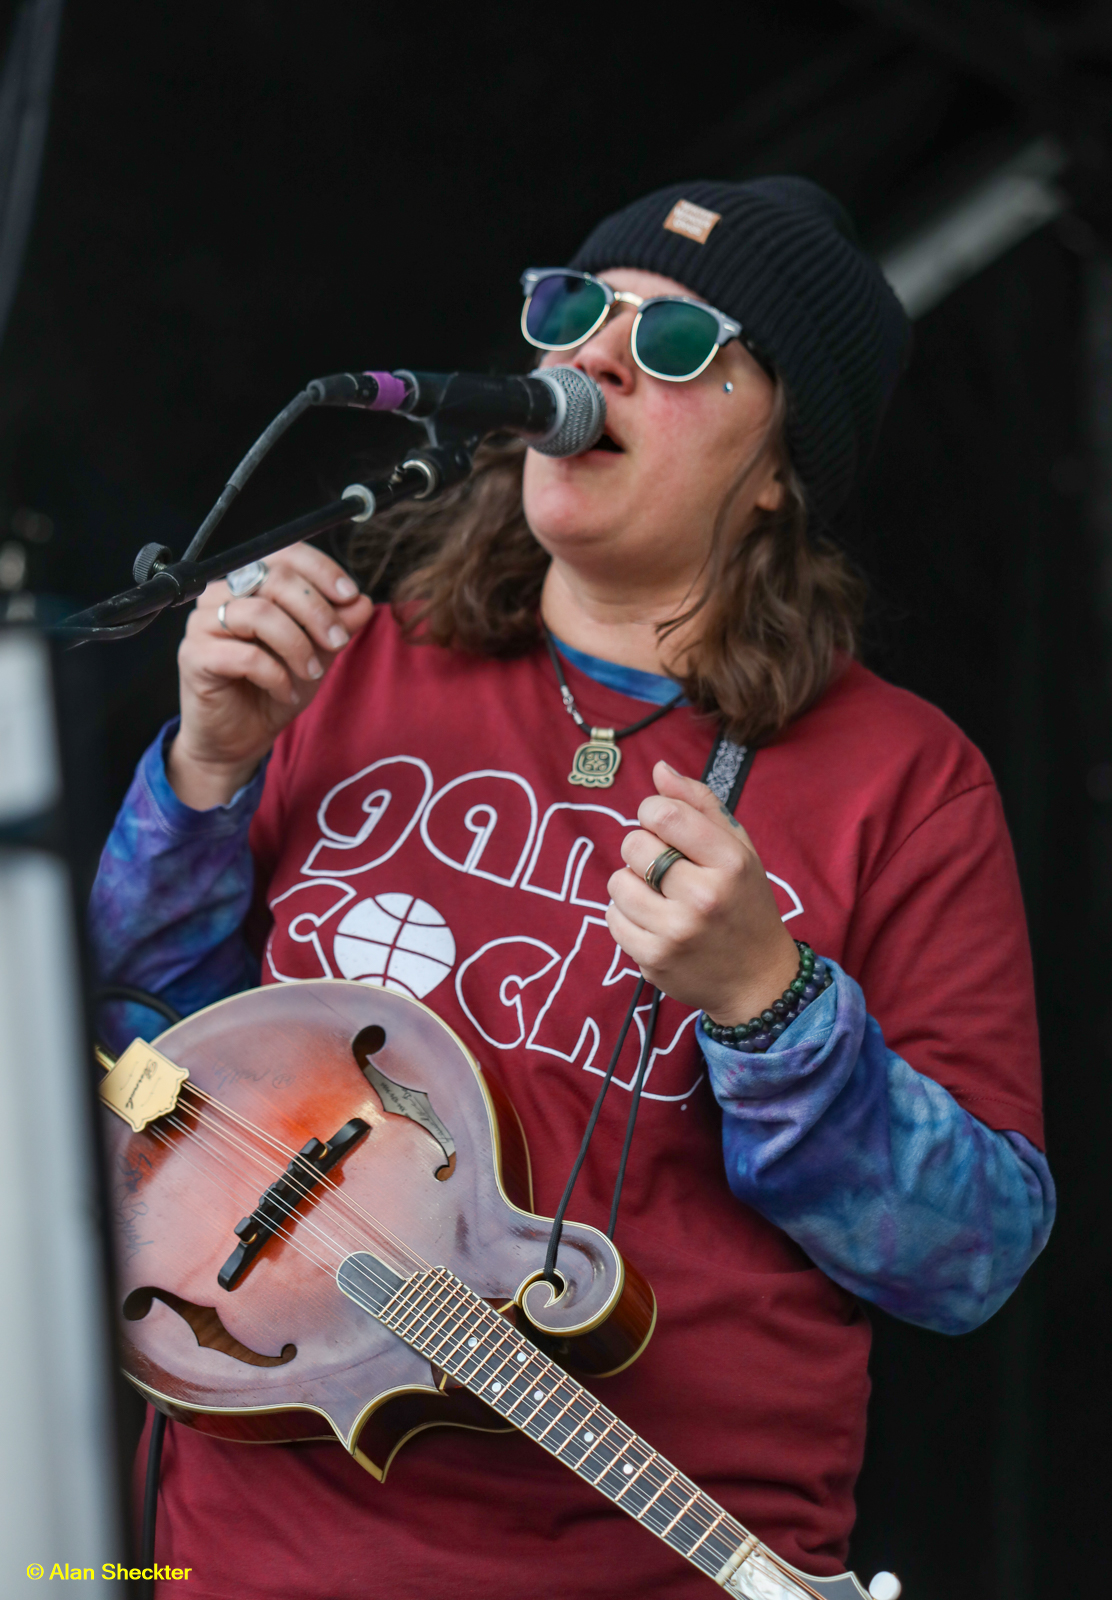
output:
POLYGON ((427 1006, 275 984, 98 1056, 123 1365, 160 1411, 336 1438, 378 1478, 424 1427, 520 1429, 726 1594, 866 1595, 784 1562, 584 1387, 642 1352, 653 1291, 579 1222, 542 1278, 520 1123, 427 1006))

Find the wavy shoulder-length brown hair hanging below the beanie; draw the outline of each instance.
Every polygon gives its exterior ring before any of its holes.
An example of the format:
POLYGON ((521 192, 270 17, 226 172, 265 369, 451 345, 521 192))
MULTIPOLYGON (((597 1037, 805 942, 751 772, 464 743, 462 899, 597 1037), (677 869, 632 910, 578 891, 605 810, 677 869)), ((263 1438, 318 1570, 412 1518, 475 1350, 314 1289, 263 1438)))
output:
MULTIPOLYGON (((786 403, 778 382, 762 446, 715 518, 698 589, 658 627, 666 638, 702 618, 672 675, 742 744, 766 744, 814 704, 838 658, 856 653, 864 608, 864 584, 845 554, 808 533, 806 498, 782 442, 786 403), (781 506, 742 525, 741 490, 770 453, 781 462, 781 506)), ((411 638, 486 656, 536 646, 549 555, 525 520, 523 461, 518 442, 483 445, 464 483, 384 512, 352 541, 352 566, 366 589, 390 594, 411 638)))

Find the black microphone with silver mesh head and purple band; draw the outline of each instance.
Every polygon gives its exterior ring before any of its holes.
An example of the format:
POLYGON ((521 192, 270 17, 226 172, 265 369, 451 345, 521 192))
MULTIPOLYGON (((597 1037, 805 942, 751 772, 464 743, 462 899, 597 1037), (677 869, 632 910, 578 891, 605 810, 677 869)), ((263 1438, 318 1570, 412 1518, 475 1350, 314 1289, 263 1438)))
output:
POLYGON ((483 437, 518 434, 544 456, 578 456, 602 437, 606 400, 574 366, 542 366, 528 378, 482 373, 333 373, 306 386, 314 405, 398 411, 438 430, 483 437))

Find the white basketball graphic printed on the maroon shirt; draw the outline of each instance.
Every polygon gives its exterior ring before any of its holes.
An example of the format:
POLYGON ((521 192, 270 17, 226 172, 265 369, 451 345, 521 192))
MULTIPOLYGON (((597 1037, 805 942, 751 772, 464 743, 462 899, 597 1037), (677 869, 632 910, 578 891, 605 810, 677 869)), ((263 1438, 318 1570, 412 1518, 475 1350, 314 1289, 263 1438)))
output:
POLYGON ((456 941, 427 901, 374 894, 347 912, 336 930, 333 954, 344 978, 421 1000, 451 971, 456 941))

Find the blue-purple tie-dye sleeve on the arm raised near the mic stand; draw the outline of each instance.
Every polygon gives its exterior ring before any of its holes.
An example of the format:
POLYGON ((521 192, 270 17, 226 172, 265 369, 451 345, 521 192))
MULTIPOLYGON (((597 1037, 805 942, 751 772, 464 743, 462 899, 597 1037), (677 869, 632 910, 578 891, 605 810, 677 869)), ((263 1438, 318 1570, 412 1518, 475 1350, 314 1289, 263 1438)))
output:
MULTIPOLYGON (((90 942, 104 984, 134 984, 178 1011, 250 989, 259 963, 243 938, 251 902, 248 827, 262 768, 227 805, 194 811, 170 787, 168 723, 136 768, 101 856, 90 902, 90 942)), ((133 1005, 104 1006, 99 1030, 114 1048, 165 1022, 133 1005)))

